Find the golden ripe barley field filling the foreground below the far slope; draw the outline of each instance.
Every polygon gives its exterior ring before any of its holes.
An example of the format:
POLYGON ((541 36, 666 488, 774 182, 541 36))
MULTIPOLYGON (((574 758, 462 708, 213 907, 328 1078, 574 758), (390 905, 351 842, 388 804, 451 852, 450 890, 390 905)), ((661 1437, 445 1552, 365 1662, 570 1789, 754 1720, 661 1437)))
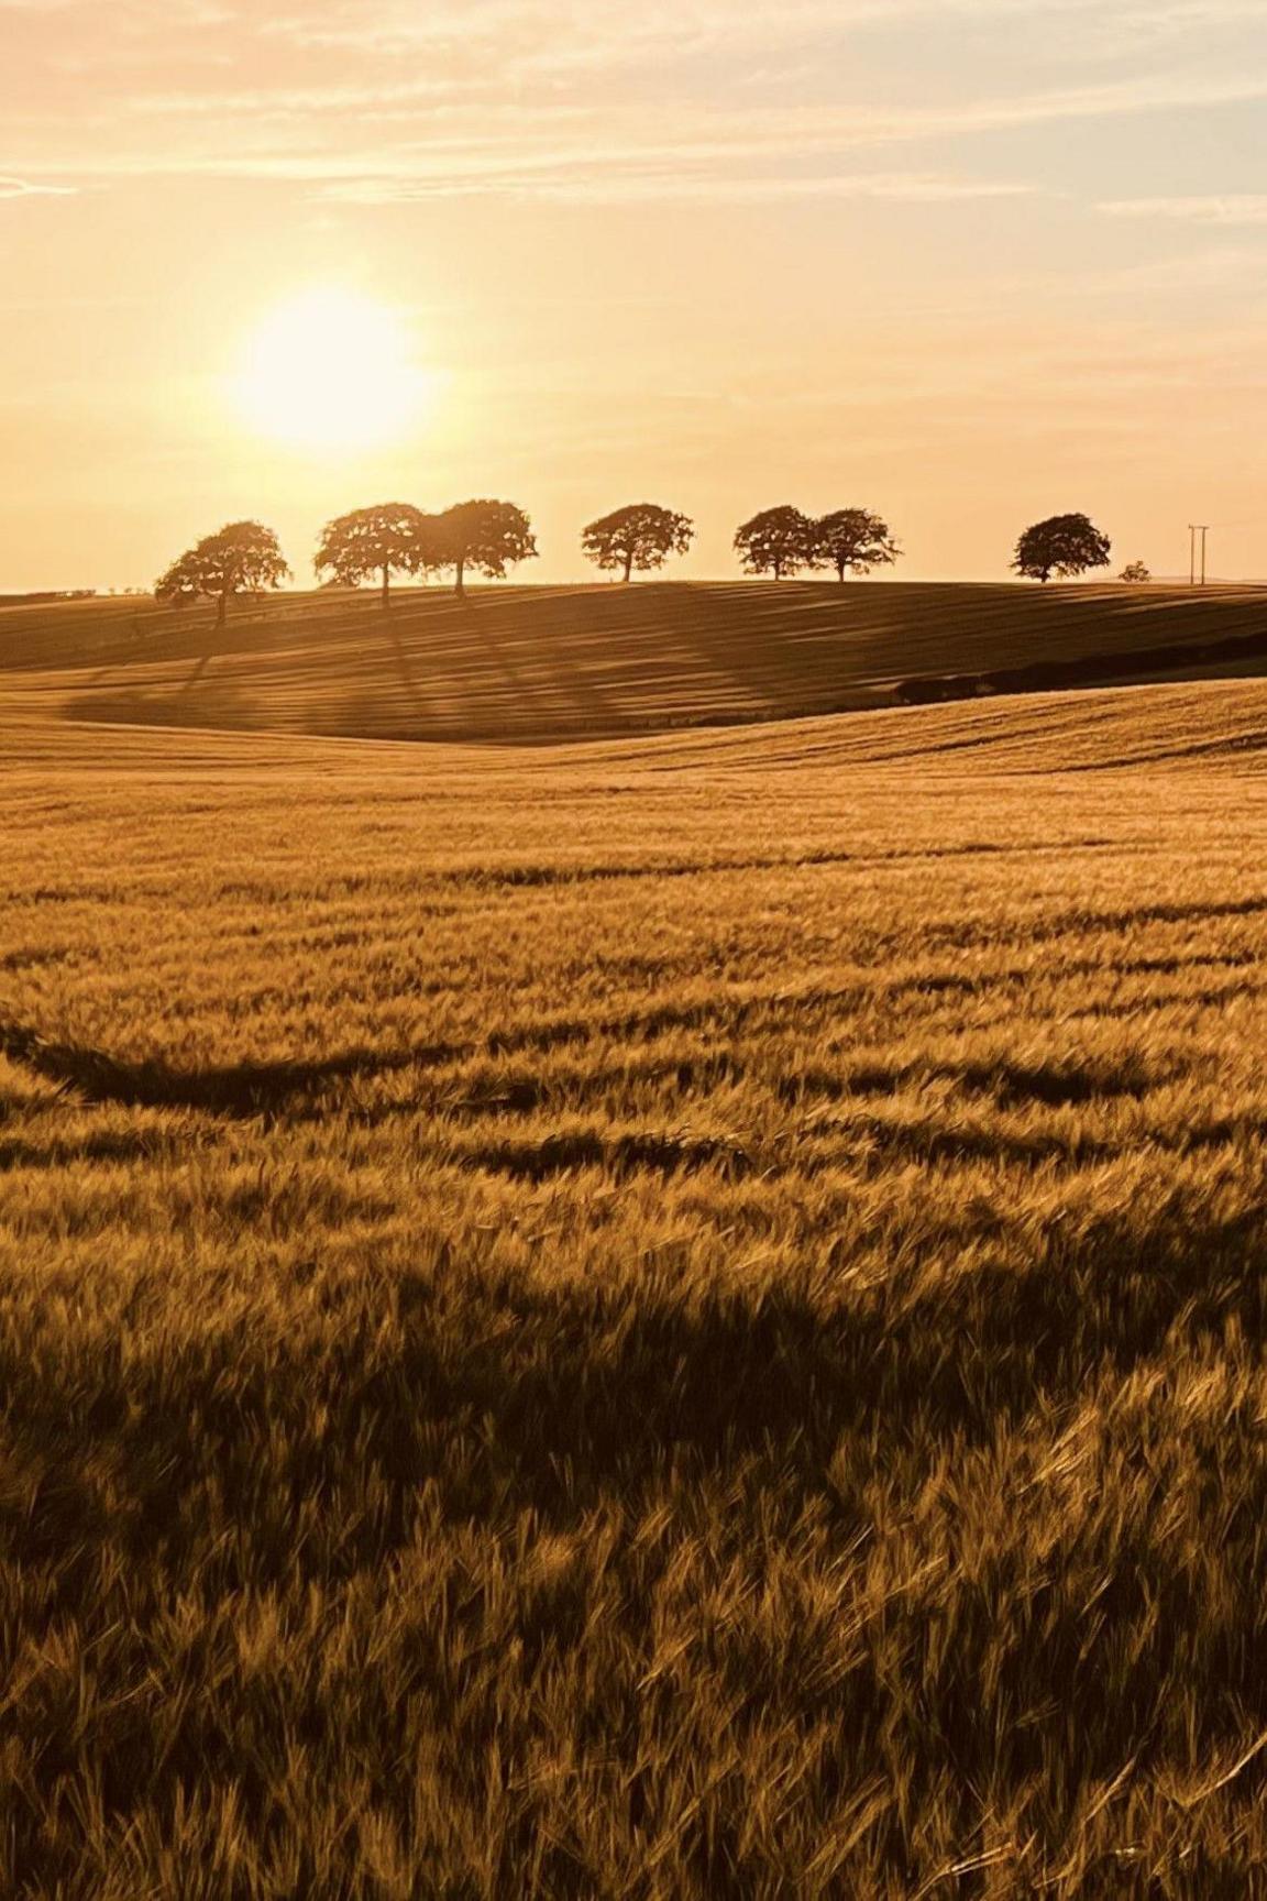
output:
POLYGON ((0 1890, 1256 1891, 1267 684, 9 686, 0 1890))

